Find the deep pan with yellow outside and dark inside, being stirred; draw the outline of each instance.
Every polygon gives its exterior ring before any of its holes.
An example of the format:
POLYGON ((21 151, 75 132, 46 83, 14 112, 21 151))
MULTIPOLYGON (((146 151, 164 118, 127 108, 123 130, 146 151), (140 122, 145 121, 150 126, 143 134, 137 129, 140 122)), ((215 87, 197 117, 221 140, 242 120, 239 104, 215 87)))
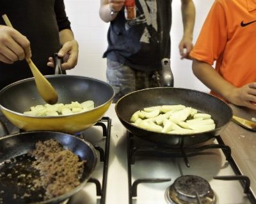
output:
POLYGON ((24 115, 31 106, 44 105, 34 78, 14 82, 0 91, 3 114, 24 131, 59 131, 74 134, 99 121, 112 103, 115 91, 111 85, 97 79, 72 75, 45 76, 58 92, 58 103, 92 100, 95 108, 88 112, 54 117, 24 115))

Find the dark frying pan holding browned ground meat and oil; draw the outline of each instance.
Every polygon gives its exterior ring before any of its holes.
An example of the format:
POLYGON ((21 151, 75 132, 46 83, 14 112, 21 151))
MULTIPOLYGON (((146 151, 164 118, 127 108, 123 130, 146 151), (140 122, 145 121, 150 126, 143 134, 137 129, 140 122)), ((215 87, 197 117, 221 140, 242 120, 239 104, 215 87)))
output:
POLYGON ((1 172, 4 170, 9 171, 13 178, 8 179, 8 177, 0 177, 0 191, 1 198, 3 199, 3 203, 60 203, 61 201, 67 200, 74 193, 79 191, 84 184, 90 179, 92 172, 95 168, 95 164, 97 163, 97 153, 93 148, 92 144, 89 142, 83 141, 76 136, 68 135, 65 133, 58 133, 52 131, 35 131, 28 133, 19 133, 16 135, 9 135, 0 138, 0 169, 1 172), (81 184, 76 188, 68 191, 68 193, 62 194, 61 196, 57 196, 55 198, 51 198, 49 200, 43 200, 40 197, 40 194, 43 194, 44 191, 35 190, 31 193, 30 196, 21 199, 20 196, 24 195, 25 190, 28 191, 29 186, 27 182, 29 179, 19 180, 13 179, 14 173, 13 170, 17 170, 19 175, 24 174, 25 178, 28 178, 28 175, 34 175, 36 171, 31 168, 29 165, 28 157, 26 153, 29 150, 35 149, 35 143, 38 141, 44 141, 54 139, 57 140, 65 149, 71 150, 74 154, 79 156, 80 159, 86 160, 86 164, 84 166, 84 172, 81 177, 81 184), (19 164, 23 164, 26 166, 26 170, 20 166, 14 166, 15 162, 13 158, 16 158, 16 161, 19 161, 19 164), (10 163, 6 163, 3 165, 4 161, 11 161, 10 163), (20 185, 19 183, 26 184, 25 187, 20 185), (4 191, 4 193, 3 193, 4 191), (15 198, 13 195, 17 196, 15 198), (15 198, 15 199, 14 199, 15 198))

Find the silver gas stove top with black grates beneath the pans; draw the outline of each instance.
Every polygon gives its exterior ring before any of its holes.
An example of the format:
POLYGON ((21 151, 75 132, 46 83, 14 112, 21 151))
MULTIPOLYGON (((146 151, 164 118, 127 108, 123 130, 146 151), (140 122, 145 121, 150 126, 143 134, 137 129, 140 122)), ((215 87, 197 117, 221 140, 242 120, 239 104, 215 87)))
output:
POLYGON ((163 149, 128 133, 115 104, 105 115, 77 134, 97 149, 98 161, 86 186, 65 203, 256 203, 250 179, 232 158, 233 147, 220 136, 163 149))

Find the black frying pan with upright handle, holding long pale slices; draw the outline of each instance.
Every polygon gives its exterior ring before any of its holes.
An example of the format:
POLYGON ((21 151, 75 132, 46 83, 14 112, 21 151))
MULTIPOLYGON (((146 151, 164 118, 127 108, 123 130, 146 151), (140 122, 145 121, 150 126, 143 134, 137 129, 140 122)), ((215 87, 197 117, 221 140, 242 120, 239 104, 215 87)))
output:
MULTIPOLYGON (((173 85, 173 75, 170 61, 163 59, 164 85, 173 85)), ((125 128, 133 135, 158 143, 166 147, 180 145, 195 145, 206 142, 216 135, 220 135, 228 122, 232 119, 232 109, 224 101, 211 94, 191 89, 157 87, 134 91, 120 98, 115 105, 116 115, 125 128), (196 108, 199 112, 212 115, 216 128, 212 131, 193 133, 188 135, 157 133, 138 128, 129 121, 134 112, 149 106, 184 105, 196 108)))

